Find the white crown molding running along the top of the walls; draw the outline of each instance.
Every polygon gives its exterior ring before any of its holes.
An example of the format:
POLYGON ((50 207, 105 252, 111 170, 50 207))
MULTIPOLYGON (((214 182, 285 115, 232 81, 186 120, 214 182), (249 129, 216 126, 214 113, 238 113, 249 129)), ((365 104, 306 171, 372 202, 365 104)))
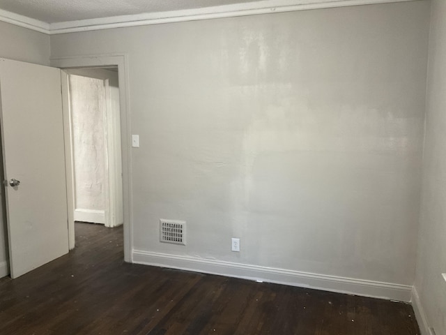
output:
POLYGON ((97 19, 46 23, 23 15, 0 9, 0 21, 15 24, 45 34, 66 34, 123 27, 145 26, 173 22, 209 20, 222 17, 238 17, 268 13, 283 13, 296 10, 310 10, 346 6, 371 5, 420 0, 261 0, 249 3, 235 3, 225 6, 174 10, 168 12, 142 13, 97 19))

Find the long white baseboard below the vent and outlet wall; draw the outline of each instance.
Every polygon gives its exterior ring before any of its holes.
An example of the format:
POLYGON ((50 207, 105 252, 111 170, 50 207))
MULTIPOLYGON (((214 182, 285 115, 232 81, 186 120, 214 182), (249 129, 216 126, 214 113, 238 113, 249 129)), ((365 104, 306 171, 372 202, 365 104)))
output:
POLYGON ((406 302, 410 301, 412 292, 411 285, 326 276, 323 274, 311 274, 271 267, 260 267, 257 265, 222 262, 219 260, 204 260, 188 256, 151 253, 148 251, 133 250, 132 259, 133 262, 137 264, 169 267, 173 269, 203 272, 206 274, 218 274, 221 276, 266 281, 269 283, 406 302))

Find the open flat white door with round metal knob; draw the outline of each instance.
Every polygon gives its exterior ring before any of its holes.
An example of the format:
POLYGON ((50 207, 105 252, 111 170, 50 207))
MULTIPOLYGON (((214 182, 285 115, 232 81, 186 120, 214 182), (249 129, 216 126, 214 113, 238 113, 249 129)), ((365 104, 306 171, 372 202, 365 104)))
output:
POLYGON ((0 59, 12 278, 68 253, 61 71, 0 59), (11 186, 10 184, 20 184, 11 186))

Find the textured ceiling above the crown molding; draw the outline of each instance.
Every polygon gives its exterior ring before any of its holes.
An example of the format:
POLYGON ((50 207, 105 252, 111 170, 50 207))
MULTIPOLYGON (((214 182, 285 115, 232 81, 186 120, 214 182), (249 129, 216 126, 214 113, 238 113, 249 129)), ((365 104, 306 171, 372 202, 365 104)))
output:
POLYGON ((0 9, 54 23, 254 1, 258 0, 0 0, 0 9))

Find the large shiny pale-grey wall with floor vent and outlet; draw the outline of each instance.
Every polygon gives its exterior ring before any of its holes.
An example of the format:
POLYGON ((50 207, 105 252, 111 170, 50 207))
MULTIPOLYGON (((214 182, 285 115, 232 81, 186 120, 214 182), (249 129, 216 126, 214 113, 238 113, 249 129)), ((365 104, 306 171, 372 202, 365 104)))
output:
POLYGON ((138 251, 412 285, 428 26, 429 2, 414 1, 51 47, 128 53, 138 251), (160 244, 159 218, 186 220, 187 246, 160 244))

